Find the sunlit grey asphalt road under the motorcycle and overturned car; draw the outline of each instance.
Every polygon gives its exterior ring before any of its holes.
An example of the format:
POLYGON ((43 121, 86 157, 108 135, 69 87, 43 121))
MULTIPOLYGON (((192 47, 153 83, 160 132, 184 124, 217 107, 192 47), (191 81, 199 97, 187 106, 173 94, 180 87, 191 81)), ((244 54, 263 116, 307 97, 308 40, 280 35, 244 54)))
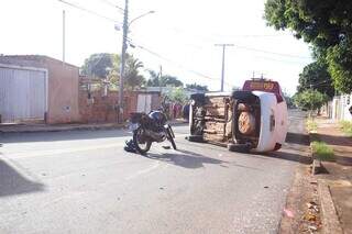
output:
MULTIPOLYGON (((299 136, 301 114, 290 112, 299 136)), ((275 155, 185 138, 123 151, 127 131, 0 136, 0 233, 276 233, 300 142, 275 155)))

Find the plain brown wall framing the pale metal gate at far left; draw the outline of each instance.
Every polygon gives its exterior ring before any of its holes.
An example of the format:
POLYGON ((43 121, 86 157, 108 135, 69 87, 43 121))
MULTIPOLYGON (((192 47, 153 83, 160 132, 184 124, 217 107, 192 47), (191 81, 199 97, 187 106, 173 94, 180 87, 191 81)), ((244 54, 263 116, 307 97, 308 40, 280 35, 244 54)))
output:
POLYGON ((48 71, 47 123, 79 122, 79 68, 46 56, 0 56, 0 63, 48 71))

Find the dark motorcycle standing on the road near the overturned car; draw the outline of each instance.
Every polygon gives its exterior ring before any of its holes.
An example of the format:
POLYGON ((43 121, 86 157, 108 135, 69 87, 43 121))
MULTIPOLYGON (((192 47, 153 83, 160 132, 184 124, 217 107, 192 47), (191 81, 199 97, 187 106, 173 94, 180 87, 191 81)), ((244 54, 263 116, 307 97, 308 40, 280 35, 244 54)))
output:
POLYGON ((133 132, 133 140, 127 144, 140 154, 146 154, 153 142, 161 143, 166 140, 176 149, 174 131, 162 111, 152 111, 148 114, 131 113, 130 130, 133 132))

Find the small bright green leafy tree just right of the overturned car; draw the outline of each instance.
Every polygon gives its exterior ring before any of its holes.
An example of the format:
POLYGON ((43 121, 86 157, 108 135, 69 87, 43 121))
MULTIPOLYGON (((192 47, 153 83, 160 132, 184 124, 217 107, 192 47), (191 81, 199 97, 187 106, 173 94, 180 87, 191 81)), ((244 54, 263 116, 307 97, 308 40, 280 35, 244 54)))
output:
POLYGON ((317 90, 305 90, 294 96, 294 102, 297 107, 309 110, 310 112, 319 110, 327 101, 328 96, 317 90))

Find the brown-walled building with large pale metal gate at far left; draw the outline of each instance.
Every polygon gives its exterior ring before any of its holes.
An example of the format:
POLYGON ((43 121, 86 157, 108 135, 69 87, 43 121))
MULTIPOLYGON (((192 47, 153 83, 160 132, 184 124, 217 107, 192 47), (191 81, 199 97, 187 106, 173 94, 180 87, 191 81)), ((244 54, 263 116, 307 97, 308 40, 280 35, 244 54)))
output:
POLYGON ((0 122, 79 122, 79 68, 42 55, 0 56, 0 122))

